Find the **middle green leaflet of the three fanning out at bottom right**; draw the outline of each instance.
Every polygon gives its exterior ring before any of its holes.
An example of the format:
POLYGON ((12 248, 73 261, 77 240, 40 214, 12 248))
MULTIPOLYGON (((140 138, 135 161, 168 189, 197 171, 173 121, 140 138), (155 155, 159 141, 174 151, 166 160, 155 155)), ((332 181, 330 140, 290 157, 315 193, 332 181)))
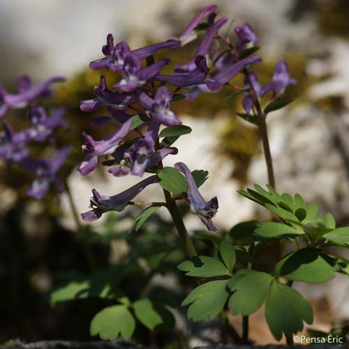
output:
POLYGON ((273 277, 254 270, 240 270, 229 281, 228 287, 234 292, 229 306, 234 315, 254 313, 265 302, 273 277))

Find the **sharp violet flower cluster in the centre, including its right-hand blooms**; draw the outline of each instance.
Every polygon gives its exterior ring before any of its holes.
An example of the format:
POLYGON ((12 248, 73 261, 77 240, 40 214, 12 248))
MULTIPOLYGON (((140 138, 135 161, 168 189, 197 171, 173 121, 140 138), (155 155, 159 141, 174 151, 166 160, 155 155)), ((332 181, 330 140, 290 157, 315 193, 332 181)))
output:
MULTIPOLYGON (((131 50, 128 43, 114 43, 112 34, 107 35, 107 44, 103 46, 104 57, 90 63, 94 70, 112 70, 119 74, 119 82, 107 87, 104 75, 101 83, 95 87, 95 98, 81 101, 80 108, 91 112, 102 106, 107 115, 95 117, 91 124, 99 126, 105 123, 116 124, 114 131, 103 140, 94 140, 91 135, 83 133, 85 154, 84 161, 77 170, 87 175, 98 166, 98 159, 112 157, 105 163, 112 165, 108 170, 114 177, 128 174, 143 177, 147 172, 158 172, 161 161, 170 154, 177 154, 177 149, 167 147, 159 142, 159 130, 163 126, 181 124, 181 120, 172 111, 172 103, 181 98, 193 100, 201 93, 216 93, 230 85, 238 73, 247 73, 253 64, 262 61, 261 57, 246 54, 260 38, 255 35, 247 23, 235 28, 235 44, 220 30, 228 22, 227 17, 216 20, 216 5, 202 9, 189 22, 179 38, 170 38, 161 43, 131 50), (177 64, 173 73, 163 74, 164 66, 171 64, 170 59, 154 59, 161 50, 180 50, 191 40, 195 40, 202 28, 205 35, 200 40, 193 57, 188 62, 177 64), (145 133, 142 131, 146 129, 145 133), (138 135, 135 137, 134 132, 138 135)), ((279 94, 288 84, 295 81, 288 77, 287 66, 281 62, 276 66, 272 82, 260 88, 255 75, 256 93, 264 96, 268 91, 279 94)), ((248 82, 246 82, 248 84, 248 82)), ((242 88, 244 89, 244 88, 242 88)), ((246 89, 247 91, 247 89, 246 89)), ((251 110, 253 98, 246 92, 244 108, 251 110)), ((188 182, 188 191, 184 193, 190 201, 191 211, 198 215, 208 230, 216 230, 211 222, 218 210, 217 198, 208 202, 202 198, 193 179, 193 175, 184 163, 177 163, 174 168, 184 174, 188 182)), ((143 179, 123 193, 107 196, 93 191, 91 211, 82 214, 84 221, 95 221, 106 211, 122 211, 128 202, 135 198, 145 187, 156 184, 156 175, 143 179)))

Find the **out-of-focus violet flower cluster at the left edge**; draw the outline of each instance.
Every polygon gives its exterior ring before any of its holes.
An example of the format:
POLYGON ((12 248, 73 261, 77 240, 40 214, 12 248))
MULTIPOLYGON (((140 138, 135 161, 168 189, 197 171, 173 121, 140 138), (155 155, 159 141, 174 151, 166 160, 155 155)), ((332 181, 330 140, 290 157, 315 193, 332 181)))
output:
POLYGON ((3 132, 0 134, 0 158, 6 163, 16 163, 22 168, 36 174, 27 195, 38 200, 43 199, 50 190, 50 185, 55 184, 59 191, 64 190, 64 185, 57 177, 61 166, 68 156, 70 147, 57 149, 50 159, 34 158, 31 156, 29 147, 31 144, 49 142, 54 146, 54 130, 67 123, 64 121, 63 107, 47 113, 45 107, 39 105, 42 97, 52 97, 50 89, 54 82, 64 82, 64 77, 51 77, 48 80, 33 85, 27 76, 22 76, 17 82, 17 93, 11 94, 0 85, 0 117, 5 117, 10 109, 27 108, 29 127, 16 131, 12 126, 3 122, 3 132))

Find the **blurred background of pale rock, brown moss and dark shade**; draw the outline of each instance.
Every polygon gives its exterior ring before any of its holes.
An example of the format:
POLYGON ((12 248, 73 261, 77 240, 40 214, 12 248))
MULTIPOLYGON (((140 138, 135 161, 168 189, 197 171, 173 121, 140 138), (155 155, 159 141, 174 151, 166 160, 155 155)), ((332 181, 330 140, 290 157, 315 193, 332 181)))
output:
MULTIPOLYGON (((116 179, 103 169, 88 177, 75 170, 83 158, 82 130, 95 139, 107 131, 92 128, 91 114, 79 109, 80 100, 93 98, 93 88, 99 84, 100 73, 89 70, 89 61, 102 57, 108 33, 117 42, 127 40, 131 48, 165 40, 180 34, 191 16, 211 2, 0 0, 0 82, 14 91, 17 77, 23 73, 35 82, 51 75, 67 78, 57 87, 52 103, 67 107, 65 118, 72 125, 61 139, 62 143, 73 142, 64 175, 79 212, 87 211, 91 188, 112 195, 138 181, 116 179)), ((232 18, 234 27, 249 22, 262 38, 263 63, 256 68, 262 83, 272 77, 276 61, 281 59, 288 62, 290 75, 298 82, 287 91, 297 101, 268 120, 278 190, 302 193, 306 202, 318 203, 320 214, 331 211, 339 226, 349 225, 348 1, 216 3, 218 14, 232 18)), ((189 60, 193 47, 188 45, 181 57, 172 56, 173 61, 189 60)), ((107 73, 110 84, 112 78, 107 73)), ((174 111, 193 132, 177 142, 179 154, 165 161, 165 165, 173 165, 180 160, 189 168, 209 171, 202 193, 205 198, 218 196, 220 209, 214 222, 221 230, 242 220, 267 217, 236 192, 253 183, 265 184, 267 174, 258 131, 235 116, 242 111, 239 97, 227 96, 228 92, 222 91, 175 106, 174 111)), ((16 112, 10 117, 20 128, 23 114, 16 112)), ((57 285, 62 272, 88 272, 82 246, 73 233, 76 223, 68 198, 65 194, 49 195, 42 202, 27 198, 32 178, 15 165, 0 163, 0 176, 0 343, 14 338, 88 340, 86 319, 101 309, 101 301, 83 300, 55 309, 47 302, 47 292, 57 285)), ((140 200, 149 195, 154 201, 162 200, 151 189, 144 191, 140 200)), ((92 248, 101 265, 117 262, 124 255, 127 244, 115 237, 115 230, 130 225, 130 216, 134 214, 128 210, 117 222, 109 217, 89 228, 99 234, 92 248)), ((165 211, 159 214, 162 227, 170 229, 169 221, 165 211)), ((202 229, 190 214, 186 224, 191 231, 202 229)), ((159 285, 170 282, 158 278, 159 285)), ((318 329, 348 322, 349 282, 344 276, 336 276, 326 285, 308 288, 296 284, 295 288, 313 302, 318 329)), ((252 317, 251 326, 254 340, 272 341, 261 313, 252 317)), ((199 339, 197 343, 201 343, 199 339)))

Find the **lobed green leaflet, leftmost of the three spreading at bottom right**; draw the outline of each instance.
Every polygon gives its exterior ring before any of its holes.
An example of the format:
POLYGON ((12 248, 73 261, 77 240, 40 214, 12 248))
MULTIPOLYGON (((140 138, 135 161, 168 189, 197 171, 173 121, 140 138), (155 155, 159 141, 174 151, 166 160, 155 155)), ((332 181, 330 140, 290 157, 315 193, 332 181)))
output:
POLYGON ((208 317, 213 320, 228 299, 227 283, 228 280, 209 281, 191 291, 181 304, 191 304, 187 312, 188 318, 201 321, 208 317))

